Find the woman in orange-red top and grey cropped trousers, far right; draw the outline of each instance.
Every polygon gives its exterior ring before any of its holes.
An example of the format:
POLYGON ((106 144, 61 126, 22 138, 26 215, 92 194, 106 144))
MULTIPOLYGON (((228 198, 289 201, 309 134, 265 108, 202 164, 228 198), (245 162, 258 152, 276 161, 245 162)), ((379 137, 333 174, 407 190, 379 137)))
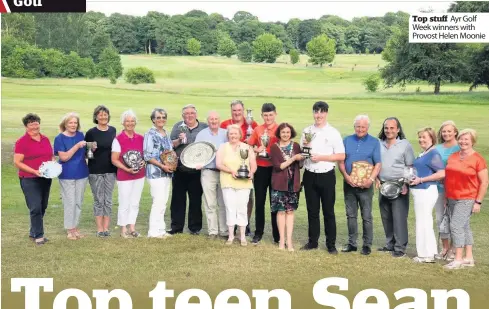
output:
POLYGON ((476 141, 474 130, 462 130, 458 136, 460 151, 453 153, 447 161, 445 193, 450 213, 450 231, 456 248, 455 260, 445 265, 447 269, 474 266, 470 216, 480 212, 489 183, 487 163, 473 148, 476 141))

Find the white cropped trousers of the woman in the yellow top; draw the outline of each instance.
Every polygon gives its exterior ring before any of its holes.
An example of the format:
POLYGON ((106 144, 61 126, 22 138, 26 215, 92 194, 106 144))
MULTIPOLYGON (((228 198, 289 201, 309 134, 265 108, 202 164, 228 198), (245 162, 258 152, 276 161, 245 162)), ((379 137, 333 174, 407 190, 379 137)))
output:
POLYGON ((226 204, 226 224, 228 226, 248 225, 248 199, 251 189, 223 188, 222 195, 226 204))

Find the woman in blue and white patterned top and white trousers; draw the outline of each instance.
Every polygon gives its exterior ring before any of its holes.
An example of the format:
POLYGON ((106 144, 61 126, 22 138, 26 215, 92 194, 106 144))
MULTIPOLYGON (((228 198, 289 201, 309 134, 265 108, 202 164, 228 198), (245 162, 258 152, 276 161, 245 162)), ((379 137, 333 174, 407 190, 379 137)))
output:
POLYGON ((173 151, 172 141, 164 126, 168 115, 162 108, 155 108, 151 113, 153 127, 144 134, 144 161, 146 178, 150 186, 153 204, 149 215, 148 237, 167 238, 171 236, 166 232, 165 210, 170 196, 170 184, 178 158, 173 151), (163 158, 166 159, 162 161, 163 158))

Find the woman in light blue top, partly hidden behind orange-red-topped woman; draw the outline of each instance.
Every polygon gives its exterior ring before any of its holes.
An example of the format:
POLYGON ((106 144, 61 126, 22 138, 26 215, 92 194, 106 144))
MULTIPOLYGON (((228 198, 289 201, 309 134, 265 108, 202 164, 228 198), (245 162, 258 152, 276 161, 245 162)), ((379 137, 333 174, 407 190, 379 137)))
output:
MULTIPOLYGON (((436 145, 436 150, 441 155, 441 159, 443 161, 443 165, 447 165, 448 157, 460 150, 460 146, 457 142, 458 138, 458 129, 455 126, 455 122, 448 120, 441 124, 440 130, 438 131, 438 142, 440 144, 436 145)), ((443 182, 438 182, 438 200, 435 204, 435 214, 436 214, 436 226, 439 227, 441 220, 443 218, 443 214, 445 212, 445 208, 447 205, 447 199, 445 197, 445 186, 443 182)), ((443 244, 442 251, 435 256, 437 259, 444 259, 447 261, 451 261, 455 257, 455 250, 450 250, 450 234, 440 233, 440 238, 443 244)))

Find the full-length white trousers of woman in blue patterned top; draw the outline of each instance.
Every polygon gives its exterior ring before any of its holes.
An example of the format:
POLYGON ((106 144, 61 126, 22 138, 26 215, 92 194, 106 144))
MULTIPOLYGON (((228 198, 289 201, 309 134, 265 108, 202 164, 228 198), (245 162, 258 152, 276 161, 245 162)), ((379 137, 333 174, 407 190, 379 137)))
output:
POLYGON ((165 210, 170 196, 170 177, 148 179, 153 204, 149 215, 148 237, 166 234, 165 210))

